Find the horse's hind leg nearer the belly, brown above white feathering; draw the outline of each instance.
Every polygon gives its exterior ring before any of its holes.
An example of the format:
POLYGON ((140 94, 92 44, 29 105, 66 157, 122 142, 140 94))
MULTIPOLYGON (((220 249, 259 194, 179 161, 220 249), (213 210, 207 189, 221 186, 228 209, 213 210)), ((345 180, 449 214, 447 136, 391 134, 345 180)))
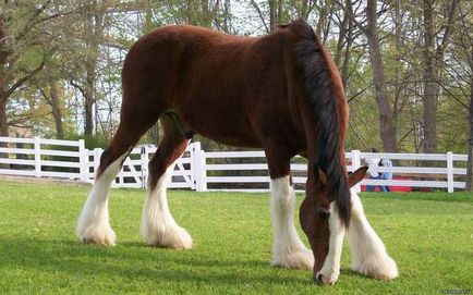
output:
POLYGON ((191 235, 174 221, 166 194, 174 161, 185 151, 189 139, 183 135, 179 123, 170 116, 163 115, 160 121, 165 135, 149 162, 148 192, 141 231, 146 244, 189 249, 192 247, 191 235))

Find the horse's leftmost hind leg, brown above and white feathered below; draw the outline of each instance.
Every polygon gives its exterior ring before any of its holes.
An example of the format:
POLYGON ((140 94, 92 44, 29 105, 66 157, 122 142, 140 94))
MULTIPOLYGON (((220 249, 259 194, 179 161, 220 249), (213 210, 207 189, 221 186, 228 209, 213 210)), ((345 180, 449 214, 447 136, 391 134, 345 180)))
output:
POLYGON ((94 186, 77 222, 76 231, 82 243, 114 245, 116 234, 108 214, 108 192, 124 159, 145 131, 145 126, 131 127, 122 122, 112 143, 104 151, 94 186))

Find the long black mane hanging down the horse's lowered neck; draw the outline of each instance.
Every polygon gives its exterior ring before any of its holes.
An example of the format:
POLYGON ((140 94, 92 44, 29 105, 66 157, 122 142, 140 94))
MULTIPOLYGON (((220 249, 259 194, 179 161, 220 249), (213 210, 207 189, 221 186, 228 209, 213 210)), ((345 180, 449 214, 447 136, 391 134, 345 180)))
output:
POLYGON ((327 60, 328 53, 324 53, 322 42, 305 21, 298 20, 289 26, 301 37, 295 47, 295 61, 304 72, 305 90, 318 126, 317 159, 313 169, 320 168, 327 175, 329 193, 337 202, 342 224, 348 228, 351 217, 350 188, 344 168, 344 136, 340 136, 345 132, 342 130, 345 126, 340 123, 345 120, 340 118, 344 115, 342 108, 345 107, 345 101, 340 101, 337 97, 335 87, 341 86, 333 82, 339 75, 330 70, 327 62, 332 61, 327 60))

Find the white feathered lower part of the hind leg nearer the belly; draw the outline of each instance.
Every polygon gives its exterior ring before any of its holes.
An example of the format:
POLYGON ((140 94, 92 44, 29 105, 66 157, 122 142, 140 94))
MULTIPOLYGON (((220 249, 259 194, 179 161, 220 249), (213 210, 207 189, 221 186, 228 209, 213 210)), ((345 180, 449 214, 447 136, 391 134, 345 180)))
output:
POLYGON ((178 225, 168 207, 166 186, 173 168, 174 164, 171 164, 159 177, 156 187, 148 192, 143 208, 141 232, 146 244, 174 249, 190 249, 192 248, 191 235, 178 225))

